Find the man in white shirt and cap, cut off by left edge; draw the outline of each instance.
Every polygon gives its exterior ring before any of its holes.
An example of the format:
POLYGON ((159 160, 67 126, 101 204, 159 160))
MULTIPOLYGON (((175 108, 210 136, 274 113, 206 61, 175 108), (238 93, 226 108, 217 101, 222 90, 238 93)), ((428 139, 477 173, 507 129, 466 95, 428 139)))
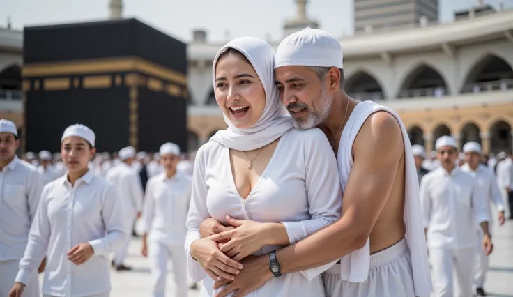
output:
MULTIPOLYGON (((16 125, 0 120, 0 296, 8 296, 36 214, 43 178, 36 167, 20 160, 16 125)), ((42 269, 43 267, 40 267, 42 269)), ((38 297, 38 274, 32 273, 24 297, 38 297)))

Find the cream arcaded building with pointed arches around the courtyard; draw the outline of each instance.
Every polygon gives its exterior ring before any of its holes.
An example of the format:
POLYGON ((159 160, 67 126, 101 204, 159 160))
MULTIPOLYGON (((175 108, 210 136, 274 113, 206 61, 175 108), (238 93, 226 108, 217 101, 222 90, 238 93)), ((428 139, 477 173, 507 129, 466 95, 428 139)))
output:
MULTIPOLYGON (((194 34, 187 47, 191 151, 227 127, 215 102, 211 69, 223 44, 209 43, 206 32, 194 34)), ((21 53, 22 34, 17 36, 21 53)), ((438 137, 453 135, 461 146, 477 141, 487 153, 512 151, 513 10, 447 24, 356 33, 340 43, 346 92, 395 110, 413 144, 431 151, 438 137)), ((6 70, 22 68, 21 54, 4 57, 0 52, 0 82, 6 70)), ((5 98, 6 91, 0 92, 5 98)), ((0 117, 19 126, 24 124, 22 108, 22 100, 0 99, 0 117)))

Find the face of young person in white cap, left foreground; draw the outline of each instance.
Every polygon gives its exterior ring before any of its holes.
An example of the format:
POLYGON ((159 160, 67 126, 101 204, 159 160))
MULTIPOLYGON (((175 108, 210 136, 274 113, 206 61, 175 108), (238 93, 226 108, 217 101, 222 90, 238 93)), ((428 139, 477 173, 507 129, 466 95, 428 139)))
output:
POLYGON ((87 169, 89 160, 96 153, 95 148, 89 148, 85 139, 77 136, 66 137, 61 144, 61 156, 68 172, 80 172, 87 169))

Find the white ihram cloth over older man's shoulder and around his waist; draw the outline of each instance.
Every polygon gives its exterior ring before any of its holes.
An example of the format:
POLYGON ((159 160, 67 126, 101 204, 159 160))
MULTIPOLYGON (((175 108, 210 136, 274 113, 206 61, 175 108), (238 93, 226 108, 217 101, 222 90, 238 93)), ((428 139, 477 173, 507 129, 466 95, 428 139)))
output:
MULTIPOLYGON (((398 260, 393 266, 384 266, 380 268, 379 273, 376 273, 371 265, 372 255, 370 254, 369 241, 367 241, 367 244, 363 248, 342 257, 341 264, 336 264, 332 268, 332 270, 336 268, 339 269, 340 277, 332 278, 329 282, 342 282, 343 284, 335 285, 328 283, 326 288, 342 287, 346 291, 327 291, 326 294, 328 294, 328 296, 342 296, 342 294, 344 294, 344 296, 351 297, 374 296, 365 292, 372 292, 373 289, 371 288, 379 285, 383 287, 376 288, 376 290, 380 291, 377 296, 427 297, 431 294, 432 290, 431 273, 429 271, 424 228, 422 226, 422 220, 419 220, 422 213, 420 210, 417 169, 415 167, 415 161, 413 160, 408 132, 399 116, 391 109, 372 101, 360 102, 356 105, 355 109, 353 109, 342 131, 339 144, 337 160, 339 163, 340 182, 342 183, 342 189, 344 189, 354 161, 352 148, 355 138, 360 128, 362 128, 363 123, 367 121, 367 118, 378 111, 385 111, 395 116, 401 125, 403 134, 406 171, 404 183, 404 222, 406 224, 406 243, 409 253, 402 257, 408 257, 410 260, 398 260), (401 268, 397 268, 399 270, 396 270, 394 266, 401 268), (415 288, 415 291, 411 291, 410 288, 415 288)), ((401 245, 404 245, 404 243, 401 243, 401 245)), ((395 248, 397 247, 392 246, 383 252, 387 252, 389 249, 395 250, 395 248)), ((381 261, 378 262, 381 263, 381 261)))

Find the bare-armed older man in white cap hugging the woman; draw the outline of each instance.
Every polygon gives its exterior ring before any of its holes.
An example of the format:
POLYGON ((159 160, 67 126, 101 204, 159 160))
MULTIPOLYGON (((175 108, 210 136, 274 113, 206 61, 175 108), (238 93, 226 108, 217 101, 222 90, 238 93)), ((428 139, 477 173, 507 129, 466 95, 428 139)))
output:
MULTIPOLYGON (((233 296, 244 296, 282 273, 337 260, 340 264, 323 276, 327 296, 429 296, 417 170, 399 116, 346 95, 342 47, 321 30, 307 28, 285 38, 277 49, 275 75, 296 128, 321 128, 337 154, 342 218, 275 253, 248 257, 218 296, 234 290, 233 296)), ((211 220, 204 224, 205 235, 222 229, 211 220)))

